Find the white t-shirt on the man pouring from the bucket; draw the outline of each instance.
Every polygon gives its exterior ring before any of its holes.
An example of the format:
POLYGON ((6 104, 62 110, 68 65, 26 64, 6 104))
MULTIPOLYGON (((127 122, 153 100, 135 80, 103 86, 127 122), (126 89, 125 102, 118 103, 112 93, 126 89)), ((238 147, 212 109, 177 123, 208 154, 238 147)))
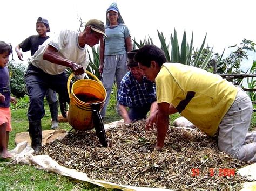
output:
POLYGON ((79 46, 78 34, 79 32, 76 31, 60 31, 59 34, 56 34, 52 38, 46 40, 42 46, 39 47, 35 55, 28 59, 28 62, 51 75, 57 75, 64 72, 67 68, 66 66, 51 63, 43 59, 45 48, 47 45, 51 45, 58 50, 58 53, 62 55, 63 58, 71 60, 78 65, 82 65, 85 70, 89 63, 87 58, 87 45, 84 48, 79 46))

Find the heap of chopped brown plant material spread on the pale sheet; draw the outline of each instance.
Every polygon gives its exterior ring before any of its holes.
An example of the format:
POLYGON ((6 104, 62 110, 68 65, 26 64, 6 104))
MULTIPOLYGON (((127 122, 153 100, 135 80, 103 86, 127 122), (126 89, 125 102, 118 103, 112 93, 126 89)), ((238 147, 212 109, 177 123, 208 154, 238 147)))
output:
POLYGON ((167 189, 239 189, 246 182, 237 174, 248 165, 218 151, 216 139, 198 130, 172 128, 162 151, 154 150, 156 131, 145 122, 110 128, 109 146, 100 145, 95 131, 69 132, 48 143, 39 154, 60 165, 86 173, 91 179, 122 185, 167 189), (235 174, 223 174, 223 169, 235 174))

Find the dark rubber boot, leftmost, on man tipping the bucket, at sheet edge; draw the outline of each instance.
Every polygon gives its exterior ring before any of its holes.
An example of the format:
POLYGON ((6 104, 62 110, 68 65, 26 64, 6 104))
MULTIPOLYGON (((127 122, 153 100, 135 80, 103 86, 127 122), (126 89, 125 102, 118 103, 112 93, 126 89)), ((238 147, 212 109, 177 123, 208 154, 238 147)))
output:
POLYGON ((39 152, 43 139, 41 120, 29 122, 29 136, 31 139, 31 147, 35 153, 39 152))

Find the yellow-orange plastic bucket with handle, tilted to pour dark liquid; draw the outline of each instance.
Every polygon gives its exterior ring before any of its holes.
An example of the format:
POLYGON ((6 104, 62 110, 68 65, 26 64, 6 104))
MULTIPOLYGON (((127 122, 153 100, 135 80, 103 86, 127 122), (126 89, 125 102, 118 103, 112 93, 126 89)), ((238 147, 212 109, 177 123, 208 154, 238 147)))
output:
POLYGON ((91 130, 94 126, 91 105, 97 103, 101 109, 106 100, 106 89, 102 82, 92 73, 85 72, 95 80, 77 80, 70 90, 70 82, 74 75, 72 73, 67 84, 70 98, 68 122, 73 129, 80 131, 91 130))

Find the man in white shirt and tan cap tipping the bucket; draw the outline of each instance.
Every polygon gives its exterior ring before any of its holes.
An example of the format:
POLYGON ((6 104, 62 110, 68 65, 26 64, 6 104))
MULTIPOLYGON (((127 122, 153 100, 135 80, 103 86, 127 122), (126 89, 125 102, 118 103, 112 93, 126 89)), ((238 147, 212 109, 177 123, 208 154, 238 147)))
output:
MULTIPOLYGON (((65 69, 70 68, 75 75, 84 74, 89 63, 86 45, 99 43, 105 34, 104 23, 89 20, 83 32, 63 30, 49 38, 29 60, 25 75, 29 95, 29 135, 31 147, 38 152, 42 144, 41 119, 44 112, 44 96, 49 88, 64 97, 69 103, 65 69)), ((80 76, 81 77, 81 76, 80 76)))

